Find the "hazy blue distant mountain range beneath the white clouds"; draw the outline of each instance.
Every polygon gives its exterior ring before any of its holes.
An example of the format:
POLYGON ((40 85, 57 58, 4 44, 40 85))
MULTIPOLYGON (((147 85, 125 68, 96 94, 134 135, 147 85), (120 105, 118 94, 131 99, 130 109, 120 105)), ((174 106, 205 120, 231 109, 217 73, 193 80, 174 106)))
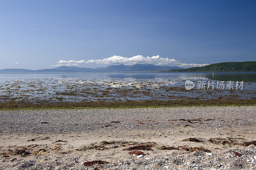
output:
POLYGON ((157 66, 153 64, 134 64, 134 65, 110 65, 107 67, 99 67, 96 69, 82 68, 75 66, 60 66, 53 69, 43 69, 43 70, 28 70, 28 69, 3 69, 0 70, 1 73, 29 73, 29 72, 91 72, 91 71, 164 71, 170 69, 184 69, 181 67, 171 67, 171 66, 157 66))

